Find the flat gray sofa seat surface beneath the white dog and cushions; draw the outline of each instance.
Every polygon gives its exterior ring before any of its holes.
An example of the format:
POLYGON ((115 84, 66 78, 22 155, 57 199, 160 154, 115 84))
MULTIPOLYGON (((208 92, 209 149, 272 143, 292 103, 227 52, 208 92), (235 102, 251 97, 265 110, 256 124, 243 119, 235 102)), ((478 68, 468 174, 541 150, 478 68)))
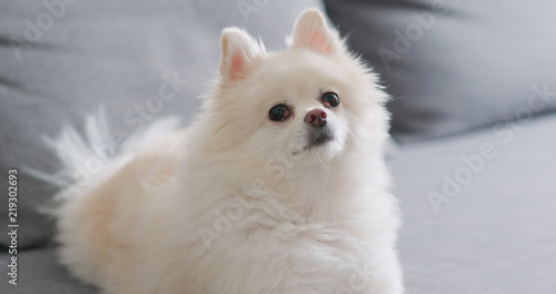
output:
MULTIPOLYGON (((388 165, 405 223, 399 251, 406 293, 554 294, 556 137, 547 134, 556 128, 556 115, 519 126, 507 126, 503 136, 486 129, 393 151, 388 165), (444 194, 443 175, 455 178, 467 167, 461 157, 473 158, 485 144, 496 156, 436 213, 427 195, 444 194)), ((1 264, 7 258, 0 255, 1 264)), ((20 285, 1 278, 0 293, 96 293, 70 278, 51 249, 19 258, 20 285)))

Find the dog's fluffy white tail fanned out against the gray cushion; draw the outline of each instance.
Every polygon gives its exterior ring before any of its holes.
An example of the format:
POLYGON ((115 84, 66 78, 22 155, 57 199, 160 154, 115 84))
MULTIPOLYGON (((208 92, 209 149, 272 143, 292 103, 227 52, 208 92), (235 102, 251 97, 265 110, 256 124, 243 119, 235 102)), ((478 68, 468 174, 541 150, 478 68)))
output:
POLYGON ((101 107, 86 118, 82 136, 76 128, 66 125, 56 138, 42 138, 62 165, 58 173, 51 175, 34 168, 24 169, 32 177, 57 186, 59 192, 54 199, 63 200, 110 176, 128 163, 141 146, 177 130, 179 125, 179 119, 175 117, 160 119, 142 131, 115 141, 116 134, 110 133, 106 110, 101 107))

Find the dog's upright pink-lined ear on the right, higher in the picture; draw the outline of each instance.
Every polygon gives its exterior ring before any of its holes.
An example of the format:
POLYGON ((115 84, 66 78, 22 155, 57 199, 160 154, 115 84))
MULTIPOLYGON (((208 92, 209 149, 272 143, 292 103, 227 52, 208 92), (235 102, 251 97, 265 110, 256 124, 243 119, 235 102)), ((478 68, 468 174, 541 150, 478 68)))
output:
POLYGON ((305 48, 330 56, 342 48, 336 30, 328 28, 325 16, 317 9, 308 9, 297 19, 290 48, 305 48))

